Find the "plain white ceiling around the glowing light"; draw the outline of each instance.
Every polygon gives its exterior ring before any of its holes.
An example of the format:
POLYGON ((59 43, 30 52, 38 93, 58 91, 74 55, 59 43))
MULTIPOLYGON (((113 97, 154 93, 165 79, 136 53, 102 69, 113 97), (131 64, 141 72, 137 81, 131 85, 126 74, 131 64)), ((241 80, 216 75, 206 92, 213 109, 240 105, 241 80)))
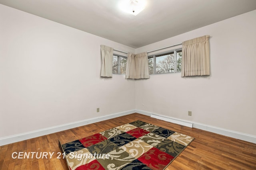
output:
POLYGON ((0 0, 0 4, 133 48, 256 10, 256 0, 146 0, 146 8, 133 16, 118 9, 119 1, 0 0))

